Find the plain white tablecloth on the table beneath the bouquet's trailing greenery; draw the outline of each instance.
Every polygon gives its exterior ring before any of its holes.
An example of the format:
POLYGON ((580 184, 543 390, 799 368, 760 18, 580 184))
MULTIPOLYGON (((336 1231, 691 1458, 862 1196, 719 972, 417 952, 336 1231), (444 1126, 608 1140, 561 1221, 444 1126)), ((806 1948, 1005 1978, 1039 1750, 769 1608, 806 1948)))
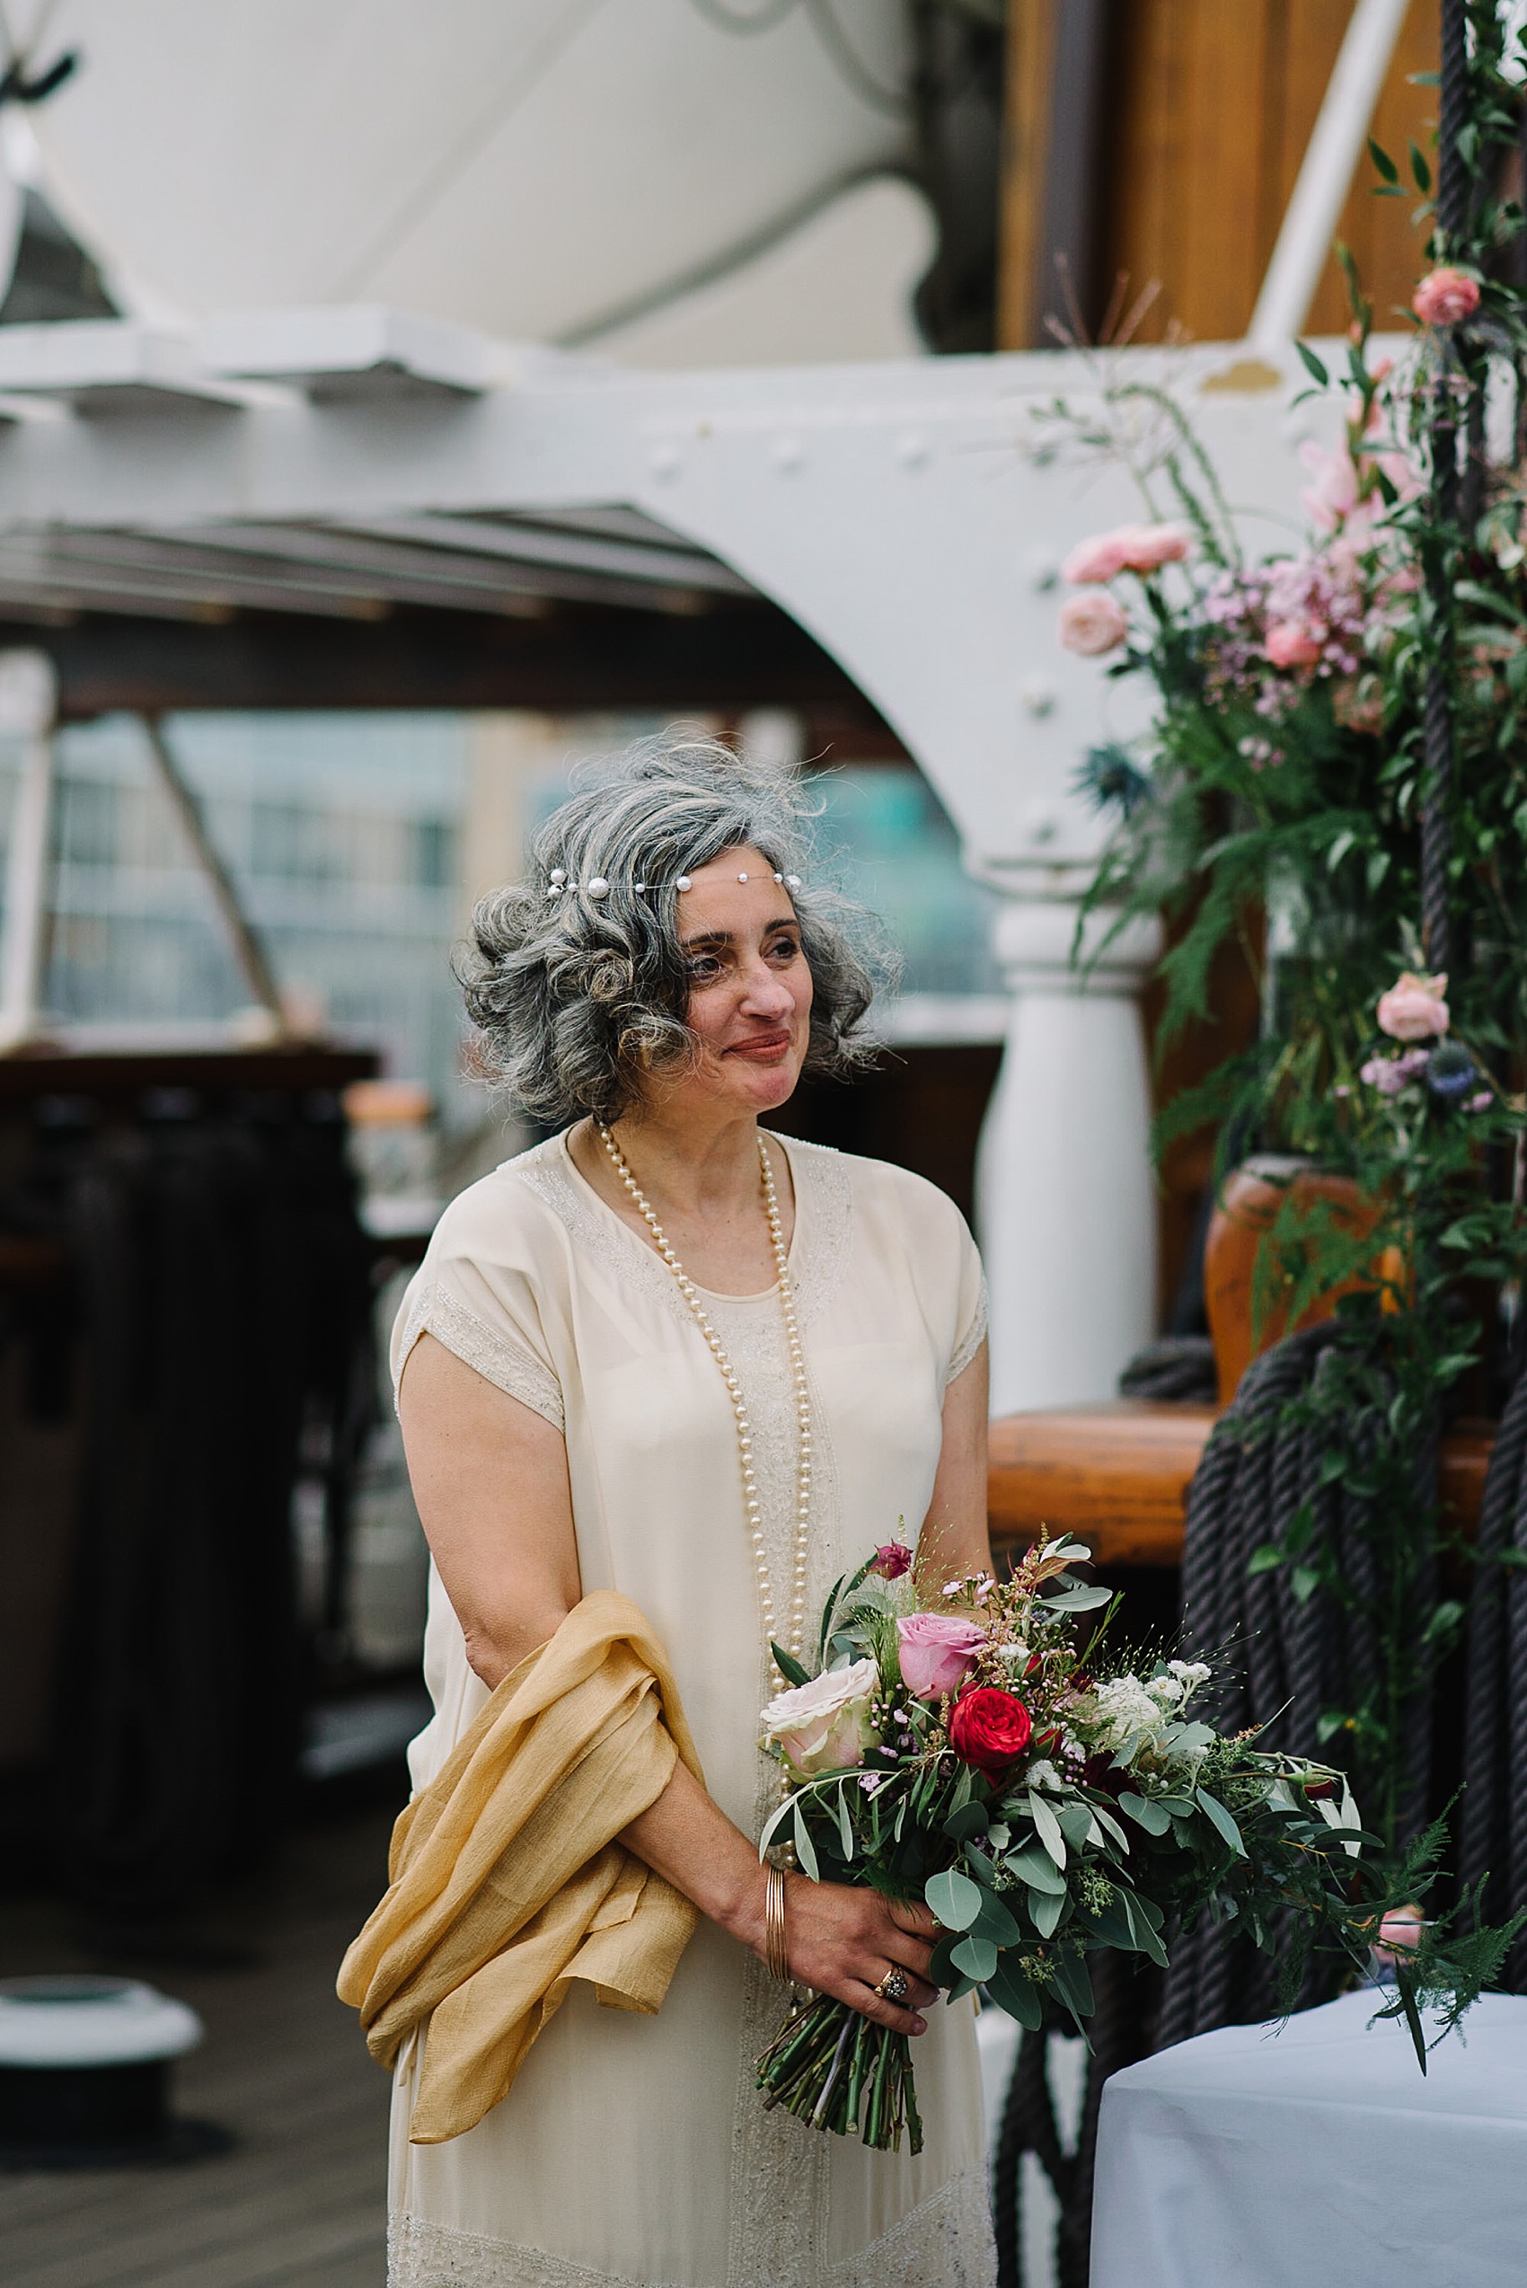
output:
POLYGON ((1486 1995, 1424 2080, 1380 2002, 1115 2073, 1092 2288, 1525 2288, 1527 2000, 1486 1995))

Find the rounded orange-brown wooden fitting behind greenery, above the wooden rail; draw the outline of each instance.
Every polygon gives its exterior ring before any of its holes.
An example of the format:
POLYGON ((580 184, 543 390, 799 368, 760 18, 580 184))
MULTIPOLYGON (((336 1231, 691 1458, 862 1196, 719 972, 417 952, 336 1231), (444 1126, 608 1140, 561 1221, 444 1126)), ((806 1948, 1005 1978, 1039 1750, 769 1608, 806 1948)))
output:
MULTIPOLYGON (((1307 1160, 1266 1155, 1248 1160, 1245 1167, 1234 1169, 1225 1178, 1204 1242, 1204 1306, 1209 1311, 1209 1334, 1213 1336, 1220 1405, 1229 1405, 1252 1359, 1271 1350, 1273 1343, 1280 1343, 1284 1334, 1296 1334, 1300 1327, 1314 1327, 1323 1318, 1332 1318, 1342 1295, 1353 1295, 1367 1284, 1360 1277, 1344 1279, 1328 1295, 1321 1295, 1319 1302, 1310 1304, 1293 1325, 1289 1325, 1287 1309, 1273 1306, 1252 1341, 1257 1256, 1264 1236, 1271 1231, 1289 1194, 1296 1201, 1328 1201, 1337 1224, 1358 1238, 1378 1222, 1378 1208, 1360 1194, 1351 1176, 1328 1176, 1310 1167, 1307 1160)), ((1385 1247, 1374 1258, 1371 1274, 1399 1286, 1403 1279, 1399 1249, 1385 1247)), ((1392 1295, 1385 1295, 1385 1309, 1397 1309, 1392 1295)))

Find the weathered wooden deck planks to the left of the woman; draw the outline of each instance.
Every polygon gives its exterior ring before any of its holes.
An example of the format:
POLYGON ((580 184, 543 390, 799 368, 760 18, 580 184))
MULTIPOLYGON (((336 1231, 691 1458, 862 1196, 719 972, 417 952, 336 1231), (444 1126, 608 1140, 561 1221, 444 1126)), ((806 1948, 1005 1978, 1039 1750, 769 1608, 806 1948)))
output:
POLYGON ((103 1963, 55 1910, 0 1904, 7 1972, 133 1970, 190 2002, 206 2043, 176 2068, 176 2112, 236 2137, 174 2169, 0 2176, 5 2288, 382 2288, 387 2078, 334 1970, 380 1897, 389 1826, 293 1837, 222 1917, 256 1949, 250 1968, 103 1963))

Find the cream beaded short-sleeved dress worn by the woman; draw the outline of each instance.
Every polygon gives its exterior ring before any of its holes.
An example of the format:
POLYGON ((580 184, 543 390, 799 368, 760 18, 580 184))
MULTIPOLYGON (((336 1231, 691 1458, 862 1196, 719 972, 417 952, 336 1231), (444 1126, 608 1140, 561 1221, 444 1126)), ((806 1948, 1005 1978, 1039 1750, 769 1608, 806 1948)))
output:
MULTIPOLYGON (((927 1510, 948 1382, 984 1336, 980 1258, 918 1176, 785 1142, 790 1270, 813 1400, 810 1599, 927 1510)), ((705 1295, 753 1419, 769 1576, 788 1592, 794 1403, 774 1288, 705 1295)), ((584 1592, 632 1597, 666 1645, 705 1780, 758 1835, 776 1766, 767 1663, 726 1387, 659 1256, 579 1176, 565 1137, 456 1199, 394 1332, 394 1375, 433 1334, 568 1439, 584 1592)), ((504 1489, 506 1517, 513 1487, 504 1489)), ((435 1718, 424 1787, 483 1707, 430 1576, 435 1718)), ((913 2043, 927 2144, 870 2153, 765 2112, 753 2061, 783 2018, 762 1965, 701 1922, 655 2018, 575 1988, 508 2098, 442 2146, 410 2146, 414 2050, 391 2128, 394 2288, 989 2288, 971 2002, 913 2043)))

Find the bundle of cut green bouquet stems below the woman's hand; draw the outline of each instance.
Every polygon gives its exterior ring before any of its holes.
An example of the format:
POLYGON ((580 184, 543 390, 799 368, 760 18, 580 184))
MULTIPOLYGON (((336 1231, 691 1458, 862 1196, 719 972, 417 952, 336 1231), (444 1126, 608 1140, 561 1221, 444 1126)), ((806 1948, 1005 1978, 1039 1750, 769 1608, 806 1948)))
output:
POLYGON ((877 2153, 900 2153, 907 2135, 911 2151, 923 2151, 911 2043, 831 1995, 790 2011, 758 2059, 758 2087, 765 2105, 783 2105, 815 2130, 859 2132, 877 2153))

